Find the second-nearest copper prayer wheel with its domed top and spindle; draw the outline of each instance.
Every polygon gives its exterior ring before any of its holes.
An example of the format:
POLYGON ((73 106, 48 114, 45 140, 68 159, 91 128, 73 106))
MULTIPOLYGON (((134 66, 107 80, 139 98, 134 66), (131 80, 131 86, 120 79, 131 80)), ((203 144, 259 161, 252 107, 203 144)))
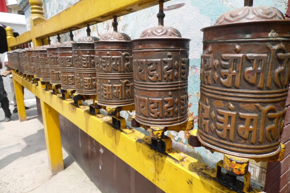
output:
POLYGON ((136 121, 168 127, 188 121, 190 39, 163 26, 163 1, 159 1, 157 17, 158 27, 132 40, 136 121))

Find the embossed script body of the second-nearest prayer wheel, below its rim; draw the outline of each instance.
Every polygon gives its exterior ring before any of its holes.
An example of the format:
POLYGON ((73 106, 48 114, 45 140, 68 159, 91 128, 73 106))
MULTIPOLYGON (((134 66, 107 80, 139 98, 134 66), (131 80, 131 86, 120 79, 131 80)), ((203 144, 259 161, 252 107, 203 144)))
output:
POLYGON ((149 126, 179 125, 188 120, 188 50, 153 52, 133 51, 136 120, 149 126))

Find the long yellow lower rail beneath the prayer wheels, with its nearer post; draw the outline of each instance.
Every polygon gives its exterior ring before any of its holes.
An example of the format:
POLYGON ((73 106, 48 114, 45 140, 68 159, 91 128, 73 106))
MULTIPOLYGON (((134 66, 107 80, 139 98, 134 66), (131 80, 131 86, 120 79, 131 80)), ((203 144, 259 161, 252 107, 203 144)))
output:
POLYGON ((210 177, 214 170, 206 164, 181 152, 178 154, 184 159, 177 161, 152 149, 150 138, 145 134, 134 129, 117 130, 112 126, 111 117, 94 116, 89 113, 89 107, 75 107, 73 101, 63 100, 61 95, 42 89, 15 73, 13 78, 16 85, 23 85, 41 99, 42 111, 45 111, 42 112, 45 115, 43 120, 47 126, 45 132, 50 132, 45 134, 53 173, 63 169, 57 160, 52 160, 62 159, 60 138, 57 137, 60 135, 60 113, 165 192, 233 192, 210 177), (47 139, 49 137, 53 139, 47 139))

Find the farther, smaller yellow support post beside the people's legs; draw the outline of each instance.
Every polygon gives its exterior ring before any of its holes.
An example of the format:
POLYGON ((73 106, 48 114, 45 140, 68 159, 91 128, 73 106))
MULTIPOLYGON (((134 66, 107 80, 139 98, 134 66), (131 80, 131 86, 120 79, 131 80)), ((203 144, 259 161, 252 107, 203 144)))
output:
MULTIPOLYGON (((13 77, 17 76, 15 73, 13 73, 13 77)), ((23 90, 22 90, 22 85, 15 81, 13 78, 13 83, 14 83, 14 89, 15 89, 15 97, 16 97, 16 103, 17 103, 17 110, 18 110, 18 116, 19 116, 19 121, 26 121, 26 111, 25 111, 25 106, 24 106, 24 97, 23 97, 23 90)))

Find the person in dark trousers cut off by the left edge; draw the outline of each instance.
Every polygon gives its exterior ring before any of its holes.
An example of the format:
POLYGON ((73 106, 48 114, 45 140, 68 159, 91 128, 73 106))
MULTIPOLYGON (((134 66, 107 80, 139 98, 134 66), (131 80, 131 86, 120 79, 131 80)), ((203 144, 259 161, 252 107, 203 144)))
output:
MULTIPOLYGON (((2 69, 3 64, 0 58, 0 69, 2 69)), ((4 89, 4 83, 3 83, 3 78, 0 75, 0 103, 1 103, 1 107, 5 113, 5 121, 10 121, 11 120, 11 112, 9 109, 9 100, 7 97, 7 93, 4 89)))

